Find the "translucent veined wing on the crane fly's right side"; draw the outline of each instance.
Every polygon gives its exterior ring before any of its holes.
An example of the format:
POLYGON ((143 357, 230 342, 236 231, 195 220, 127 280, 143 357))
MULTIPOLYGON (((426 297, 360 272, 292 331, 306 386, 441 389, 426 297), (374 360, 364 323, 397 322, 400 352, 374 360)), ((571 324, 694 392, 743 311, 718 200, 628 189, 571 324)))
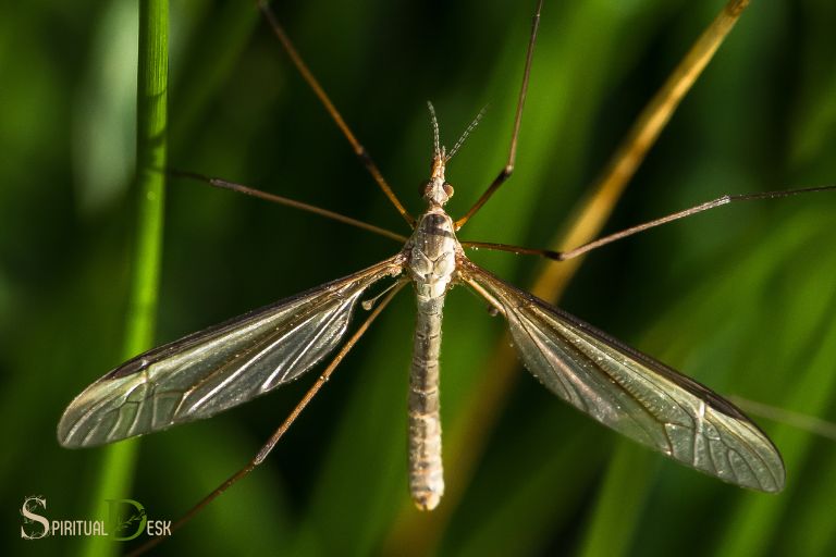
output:
POLYGON ((528 370, 599 422, 726 482, 784 487, 766 435, 732 403, 467 261, 463 277, 507 319, 528 370))

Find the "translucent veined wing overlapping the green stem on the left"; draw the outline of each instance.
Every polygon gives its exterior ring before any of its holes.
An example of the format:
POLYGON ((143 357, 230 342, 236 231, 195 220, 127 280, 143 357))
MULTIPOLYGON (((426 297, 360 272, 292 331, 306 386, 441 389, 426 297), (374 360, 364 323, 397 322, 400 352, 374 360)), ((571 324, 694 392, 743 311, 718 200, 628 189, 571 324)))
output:
POLYGON ((58 424, 65 447, 100 445, 208 418, 293 381, 343 337, 395 256, 133 358, 87 387, 58 424))

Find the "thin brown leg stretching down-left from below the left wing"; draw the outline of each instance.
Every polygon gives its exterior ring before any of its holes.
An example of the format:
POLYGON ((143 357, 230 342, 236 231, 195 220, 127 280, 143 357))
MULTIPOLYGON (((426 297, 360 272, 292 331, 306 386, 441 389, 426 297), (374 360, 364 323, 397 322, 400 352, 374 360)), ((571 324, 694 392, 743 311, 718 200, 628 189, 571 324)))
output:
MULTIPOLYGON (((390 301, 392 301, 392 298, 395 297, 395 295, 403 288, 403 286, 406 283, 399 283, 392 292, 390 292, 385 298, 383 298, 380 304, 369 313, 369 317, 366 318, 366 321, 362 322, 362 324, 357 329, 357 331, 352 335, 348 341, 343 345, 342 348, 340 348, 340 351, 334 356, 334 359, 331 360, 331 363, 328 364, 328 368, 322 372, 322 374, 317 379, 317 382, 314 383, 314 385, 308 389, 307 393, 305 393, 305 396, 299 400, 299 404, 296 405, 296 407, 293 409, 293 411, 285 418, 285 420, 282 422, 282 424, 279 426, 278 430, 270 436, 267 443, 259 449, 258 454, 250 460, 247 466, 232 474, 226 481, 224 481, 221 485, 216 487, 216 490, 204 497, 200 503, 192 507, 188 512, 186 512, 180 520, 174 522, 171 525, 171 532, 173 533, 175 530, 179 530, 182 525, 184 525, 186 522, 192 520, 195 515, 197 515, 200 510, 202 510, 207 505, 209 505, 211 502, 213 502, 218 496, 220 496, 223 492, 230 488, 235 482, 247 475, 249 472, 251 472, 258 465, 265 461, 265 458, 267 458, 267 455, 270 454, 270 451, 273 449, 276 443, 279 443, 279 440, 282 438, 282 436, 287 432, 287 430, 293 425, 293 422, 296 421, 296 418, 299 417, 302 411, 305 409, 305 407, 308 406, 308 403, 314 398, 314 396, 319 392, 320 388, 328 382, 328 380, 331 377, 331 374, 334 372, 336 367, 340 364, 341 361, 343 361, 343 358, 348 354, 348 351, 354 348, 354 345, 357 344, 357 341, 360 339, 360 337, 366 333, 366 331, 369 329, 369 325, 380 315, 380 312, 383 311, 383 309, 389 305, 390 301)), ((151 549, 157 544, 165 540, 163 536, 157 536, 149 540, 147 543, 140 545, 136 549, 128 553, 128 556, 135 556, 135 555, 142 555, 146 553, 148 549, 151 549)))

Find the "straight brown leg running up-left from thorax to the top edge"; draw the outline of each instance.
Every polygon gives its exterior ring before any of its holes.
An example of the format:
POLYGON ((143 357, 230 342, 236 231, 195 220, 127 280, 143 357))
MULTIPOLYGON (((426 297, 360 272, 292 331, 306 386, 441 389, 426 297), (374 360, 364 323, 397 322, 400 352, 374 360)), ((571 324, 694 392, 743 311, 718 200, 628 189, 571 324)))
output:
POLYGON ((267 23, 270 24, 270 27, 273 29, 273 34, 276 36, 276 38, 279 38, 279 41, 284 47, 287 55, 291 57, 291 61, 293 62, 293 65, 296 66, 296 70, 299 71, 299 74, 302 74, 302 78, 305 79, 308 86, 314 90, 314 94, 331 115, 331 119, 337 125, 345 138, 348 139, 348 143, 352 144, 354 153, 357 156, 357 158, 360 159, 362 165, 366 166, 366 170, 369 171, 369 174, 371 174, 371 176, 374 178, 374 182, 378 183, 380 189, 383 190, 383 194, 385 194, 392 205, 395 206, 395 209, 397 209, 397 212, 401 213, 401 216, 404 218, 409 226, 415 227, 415 219, 409 214, 409 212, 407 212, 406 208, 403 206, 403 203, 401 203, 401 200, 397 199, 395 193, 392 191, 392 188, 389 187, 389 184, 380 173, 378 165, 374 164, 374 161, 371 160, 371 157, 366 151, 366 148, 360 145, 360 143, 354 136, 354 133, 352 133, 352 129, 348 127, 348 124, 345 123, 345 120, 343 120, 343 116, 336 110, 334 103, 331 102, 331 99, 328 97, 324 89, 322 89, 322 86, 319 84, 317 78, 314 77, 314 74, 310 72, 308 65, 299 55, 296 47, 293 46, 290 37, 287 37, 287 34, 284 33, 284 28, 282 28, 282 26, 279 24, 279 20, 276 20, 275 14, 268 5, 267 0, 258 0, 258 9, 261 10, 261 13, 267 20, 267 23))

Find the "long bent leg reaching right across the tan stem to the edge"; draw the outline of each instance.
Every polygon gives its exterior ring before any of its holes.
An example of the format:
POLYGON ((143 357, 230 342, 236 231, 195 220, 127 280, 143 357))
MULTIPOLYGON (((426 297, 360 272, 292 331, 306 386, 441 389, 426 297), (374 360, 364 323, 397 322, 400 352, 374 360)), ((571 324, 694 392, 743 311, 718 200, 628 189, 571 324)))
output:
POLYGON ((613 242, 619 240, 622 238, 626 238, 627 236, 632 236, 634 234, 638 234, 639 232, 643 232, 649 228, 654 228, 661 224, 665 224, 668 222, 678 221, 679 219, 685 219, 686 216, 701 213, 703 211, 708 211, 709 209, 723 207, 724 205, 733 203, 735 201, 777 199, 779 197, 790 197, 790 196, 797 196, 801 194, 812 194, 815 191, 828 191, 834 189, 836 189, 836 185, 803 187, 798 189, 782 189, 778 191, 760 191, 757 194, 726 195, 723 197, 718 197, 716 199, 712 199, 711 201, 705 201, 704 203, 700 203, 698 206, 693 206, 688 209, 677 211, 675 213, 666 214, 665 216, 660 216, 659 219, 653 219, 652 221, 648 221, 642 224, 637 224, 636 226, 630 226, 629 228, 625 228, 619 232, 614 232, 613 234, 607 234, 606 236, 602 236, 598 239, 588 242, 586 244, 581 244, 576 248, 567 249, 565 251, 555 251, 552 249, 524 248, 519 246, 509 246, 507 244, 494 244, 490 242, 463 242, 462 246, 466 248, 472 248, 472 249, 493 249, 496 251, 511 251, 511 252, 520 253, 520 255, 541 256, 548 259, 553 259, 555 261, 565 261, 567 259, 573 259, 578 256, 582 256, 587 251, 592 251, 593 249, 598 249, 602 246, 606 246, 607 244, 612 244, 613 242))

